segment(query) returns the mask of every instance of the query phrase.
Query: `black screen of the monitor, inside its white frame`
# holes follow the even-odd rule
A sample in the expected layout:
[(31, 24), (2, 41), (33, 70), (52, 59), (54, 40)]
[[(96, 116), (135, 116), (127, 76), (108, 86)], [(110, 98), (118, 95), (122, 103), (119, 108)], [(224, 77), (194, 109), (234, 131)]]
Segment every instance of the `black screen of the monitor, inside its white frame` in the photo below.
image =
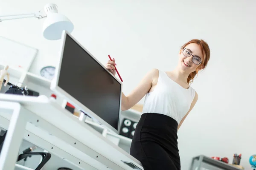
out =
[(63, 50), (58, 86), (118, 130), (121, 84), (68, 34)]

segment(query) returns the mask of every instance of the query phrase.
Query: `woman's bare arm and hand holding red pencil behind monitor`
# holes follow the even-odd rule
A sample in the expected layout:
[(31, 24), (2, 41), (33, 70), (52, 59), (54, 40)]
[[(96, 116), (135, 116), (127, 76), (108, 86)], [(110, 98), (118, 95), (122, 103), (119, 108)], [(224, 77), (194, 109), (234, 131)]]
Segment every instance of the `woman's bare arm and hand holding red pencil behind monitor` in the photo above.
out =
[[(113, 73), (115, 69), (114, 65), (115, 62), (108, 61), (106, 68)], [(128, 96), (122, 93), (121, 110), (126, 111), (136, 105), (151, 89), (155, 77), (158, 77), (158, 70), (154, 68), (143, 77), (139, 85)]]

